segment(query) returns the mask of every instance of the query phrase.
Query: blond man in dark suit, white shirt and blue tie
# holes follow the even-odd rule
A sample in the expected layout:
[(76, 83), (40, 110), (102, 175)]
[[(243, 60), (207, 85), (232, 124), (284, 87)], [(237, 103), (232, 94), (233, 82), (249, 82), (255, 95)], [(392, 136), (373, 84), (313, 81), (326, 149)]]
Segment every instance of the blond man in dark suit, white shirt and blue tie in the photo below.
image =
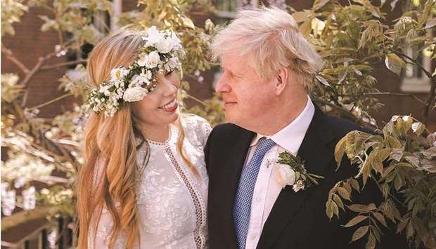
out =
[[(353, 216), (326, 216), (328, 191), (357, 173), (349, 161), (335, 172), (335, 144), (359, 126), (326, 116), (307, 95), (322, 62), (292, 16), (277, 8), (240, 11), (212, 53), (224, 69), (215, 90), (229, 123), (212, 130), (205, 148), (210, 248), (365, 248), (368, 234), (350, 243), (356, 228), (340, 226)], [(308, 173), (324, 178), (299, 191), (283, 188), (275, 165), (281, 152), (300, 156)], [(377, 248), (406, 248), (391, 242), (385, 234)]]

